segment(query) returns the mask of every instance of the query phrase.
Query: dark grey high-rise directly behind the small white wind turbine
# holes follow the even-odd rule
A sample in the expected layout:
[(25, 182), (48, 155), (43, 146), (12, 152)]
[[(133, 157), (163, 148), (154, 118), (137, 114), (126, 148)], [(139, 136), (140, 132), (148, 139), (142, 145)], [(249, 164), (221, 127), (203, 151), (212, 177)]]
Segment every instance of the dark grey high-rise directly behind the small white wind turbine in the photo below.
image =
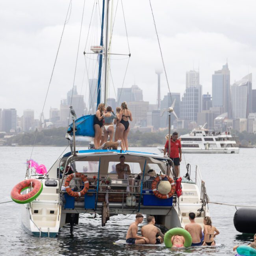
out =
[[(177, 117), (180, 117), (180, 93), (168, 93), (163, 97), (163, 100), (161, 100), (161, 110), (169, 108), (172, 106), (173, 102), (175, 100), (174, 104), (174, 112), (176, 113)], [(174, 120), (176, 117), (174, 117), (173, 114), (171, 114), (171, 125), (173, 125)], [(168, 127), (169, 126), (169, 117), (168, 113), (165, 111), (163, 113), (163, 116), (161, 117), (161, 124), (160, 127)]]

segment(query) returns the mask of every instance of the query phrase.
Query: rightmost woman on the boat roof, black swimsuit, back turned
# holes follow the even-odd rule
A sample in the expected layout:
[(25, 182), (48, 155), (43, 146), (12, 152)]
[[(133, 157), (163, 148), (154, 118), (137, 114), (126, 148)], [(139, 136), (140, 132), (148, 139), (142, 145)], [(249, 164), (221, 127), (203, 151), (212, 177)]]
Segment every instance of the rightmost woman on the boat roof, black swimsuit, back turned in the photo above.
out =
[(129, 119), (132, 121), (132, 113), (128, 109), (126, 102), (122, 102), (121, 111), (119, 113), (119, 131), (118, 139), (122, 140), (122, 150), (128, 150), (128, 134), (130, 132)]

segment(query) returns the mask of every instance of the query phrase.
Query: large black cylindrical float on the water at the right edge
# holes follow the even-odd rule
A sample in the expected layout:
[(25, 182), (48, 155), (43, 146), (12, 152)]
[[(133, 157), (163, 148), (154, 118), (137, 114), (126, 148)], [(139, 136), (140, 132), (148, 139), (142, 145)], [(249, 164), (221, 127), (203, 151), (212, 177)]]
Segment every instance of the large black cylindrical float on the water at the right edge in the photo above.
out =
[(239, 208), (234, 215), (234, 226), (238, 232), (255, 234), (256, 208)]

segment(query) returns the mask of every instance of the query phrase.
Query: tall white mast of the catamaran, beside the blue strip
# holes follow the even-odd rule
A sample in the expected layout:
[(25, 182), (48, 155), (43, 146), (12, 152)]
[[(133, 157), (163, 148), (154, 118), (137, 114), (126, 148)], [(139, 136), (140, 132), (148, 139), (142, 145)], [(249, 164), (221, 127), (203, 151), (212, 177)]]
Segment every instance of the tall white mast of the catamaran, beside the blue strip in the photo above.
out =
[(108, 33), (109, 33), (109, 0), (106, 2), (106, 35), (104, 44), (104, 104), (107, 102), (107, 86), (108, 86)]

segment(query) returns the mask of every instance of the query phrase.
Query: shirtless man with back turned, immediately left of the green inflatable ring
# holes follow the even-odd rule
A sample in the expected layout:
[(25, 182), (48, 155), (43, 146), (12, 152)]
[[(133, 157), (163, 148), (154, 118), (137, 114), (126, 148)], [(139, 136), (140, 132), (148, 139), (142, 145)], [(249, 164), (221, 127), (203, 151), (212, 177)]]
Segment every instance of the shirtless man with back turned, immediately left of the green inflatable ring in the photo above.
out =
[[(143, 226), (141, 228), (141, 234), (142, 236), (145, 236), (149, 239), (149, 243), (153, 245), (157, 245), (159, 243), (163, 243), (163, 233), (161, 232), (160, 228), (155, 226), (155, 217), (154, 216), (149, 216), (147, 218), (148, 224)], [(156, 234), (159, 236), (156, 237)]]

